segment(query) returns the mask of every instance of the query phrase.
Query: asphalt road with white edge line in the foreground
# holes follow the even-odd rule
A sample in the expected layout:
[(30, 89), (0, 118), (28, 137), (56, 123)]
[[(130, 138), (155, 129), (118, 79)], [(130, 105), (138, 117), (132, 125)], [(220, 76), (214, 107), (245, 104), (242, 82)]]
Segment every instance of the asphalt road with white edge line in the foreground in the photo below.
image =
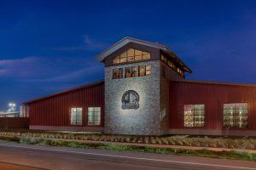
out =
[[(4, 166), (6, 168), (2, 168)], [(256, 170), (256, 162), (0, 142), (0, 169), (37, 170), (38, 168), (74, 170)]]

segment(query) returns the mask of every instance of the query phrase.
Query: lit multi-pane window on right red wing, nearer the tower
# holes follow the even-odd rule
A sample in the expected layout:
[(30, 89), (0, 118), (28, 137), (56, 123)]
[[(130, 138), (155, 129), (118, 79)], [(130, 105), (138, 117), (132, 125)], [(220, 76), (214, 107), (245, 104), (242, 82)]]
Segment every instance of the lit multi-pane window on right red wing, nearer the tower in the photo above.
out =
[(205, 127), (205, 105), (184, 105), (184, 127)]

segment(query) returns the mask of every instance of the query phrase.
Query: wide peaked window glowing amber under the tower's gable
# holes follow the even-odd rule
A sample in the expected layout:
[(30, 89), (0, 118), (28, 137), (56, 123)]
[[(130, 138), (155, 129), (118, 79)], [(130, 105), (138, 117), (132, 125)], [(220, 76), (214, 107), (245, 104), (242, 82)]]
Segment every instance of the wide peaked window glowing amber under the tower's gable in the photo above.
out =
[(146, 59), (150, 59), (150, 54), (148, 52), (140, 51), (134, 48), (129, 48), (122, 54), (119, 54), (119, 56), (117, 56), (115, 59), (113, 59), (113, 64), (134, 62)]

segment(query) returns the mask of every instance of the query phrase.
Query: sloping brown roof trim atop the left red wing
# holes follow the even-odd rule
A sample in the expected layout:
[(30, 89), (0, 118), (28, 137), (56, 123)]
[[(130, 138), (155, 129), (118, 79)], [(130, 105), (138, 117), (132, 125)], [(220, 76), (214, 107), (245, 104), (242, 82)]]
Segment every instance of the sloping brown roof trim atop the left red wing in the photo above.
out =
[(47, 98), (50, 98), (50, 97), (53, 97), (53, 96), (56, 96), (56, 95), (59, 95), (59, 94), (65, 94), (65, 93), (71, 92), (73, 90), (79, 90), (81, 88), (90, 88), (92, 86), (96, 86), (96, 85), (99, 85), (99, 84), (102, 84), (102, 83), (104, 83), (104, 80), (100, 80), (100, 81), (97, 81), (97, 82), (89, 82), (87, 84), (84, 84), (84, 85), (76, 87), (76, 88), (69, 88), (69, 89), (63, 90), (63, 91), (55, 93), (55, 94), (49, 94), (49, 95), (46, 95), (44, 97), (28, 100), (26, 102), (23, 102), (22, 105), (27, 105), (27, 104), (30, 104), (32, 102), (35, 102), (35, 101), (38, 101), (38, 100), (41, 100), (41, 99), (47, 99)]

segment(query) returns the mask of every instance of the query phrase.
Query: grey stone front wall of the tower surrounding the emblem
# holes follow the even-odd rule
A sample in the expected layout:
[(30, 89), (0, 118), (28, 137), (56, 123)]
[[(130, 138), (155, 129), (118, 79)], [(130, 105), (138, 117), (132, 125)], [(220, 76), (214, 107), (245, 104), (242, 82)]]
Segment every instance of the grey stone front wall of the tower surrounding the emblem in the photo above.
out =
[[(112, 79), (113, 68), (151, 65), (148, 77)], [(139, 94), (139, 109), (122, 110), (127, 90)], [(105, 67), (105, 133), (160, 135), (160, 60)]]

